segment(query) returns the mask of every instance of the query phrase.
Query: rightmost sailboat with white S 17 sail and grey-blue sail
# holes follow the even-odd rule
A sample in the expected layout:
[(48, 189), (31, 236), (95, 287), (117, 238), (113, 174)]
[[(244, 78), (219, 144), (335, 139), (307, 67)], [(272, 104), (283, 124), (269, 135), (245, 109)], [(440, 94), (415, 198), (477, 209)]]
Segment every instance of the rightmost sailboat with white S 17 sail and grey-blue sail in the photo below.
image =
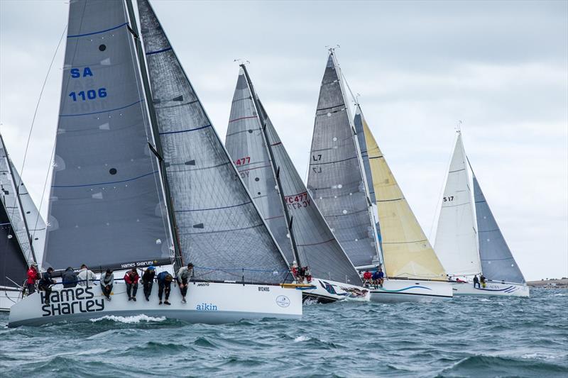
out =
[[(435, 243), (440, 260), (452, 278), (454, 295), (529, 296), (525, 277), (468, 165), (458, 130)], [(475, 275), (486, 277), (486, 283), (475, 287), (472, 282)]]

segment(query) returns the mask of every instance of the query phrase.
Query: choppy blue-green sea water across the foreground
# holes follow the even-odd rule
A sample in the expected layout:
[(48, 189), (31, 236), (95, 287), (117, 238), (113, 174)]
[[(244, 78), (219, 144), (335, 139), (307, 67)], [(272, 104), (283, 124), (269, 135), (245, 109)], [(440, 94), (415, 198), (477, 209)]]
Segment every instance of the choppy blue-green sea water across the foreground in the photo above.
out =
[(568, 377), (568, 291), (308, 304), (300, 321), (136, 316), (7, 328), (0, 377)]

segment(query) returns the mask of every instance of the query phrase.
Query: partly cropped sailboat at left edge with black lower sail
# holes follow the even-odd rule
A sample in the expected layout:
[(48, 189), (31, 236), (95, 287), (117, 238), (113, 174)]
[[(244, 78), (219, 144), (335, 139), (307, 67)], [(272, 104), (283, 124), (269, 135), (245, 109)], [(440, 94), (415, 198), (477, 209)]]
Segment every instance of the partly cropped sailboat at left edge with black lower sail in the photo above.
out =
[[(21, 188), (19, 193), (18, 187)], [(26, 216), (31, 215), (35, 205), (32, 201), (26, 205), (33, 209), (24, 208), (25, 196), (29, 196), (28, 192), (0, 135), (0, 311), (9, 311), (21, 299), (26, 272), (36, 261), (32, 247), (35, 240), (28, 229), (29, 218)], [(38, 235), (37, 240), (39, 238)]]

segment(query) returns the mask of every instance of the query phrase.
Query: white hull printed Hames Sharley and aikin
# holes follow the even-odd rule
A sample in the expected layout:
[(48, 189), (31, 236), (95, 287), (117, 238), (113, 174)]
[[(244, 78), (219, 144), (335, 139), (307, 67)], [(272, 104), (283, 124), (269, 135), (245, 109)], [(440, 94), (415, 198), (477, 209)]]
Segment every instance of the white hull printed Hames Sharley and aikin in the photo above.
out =
[(58, 321), (85, 321), (103, 316), (147, 316), (179, 319), (190, 323), (232, 323), (242, 319), (290, 318), (302, 316), (302, 291), (275, 285), (195, 282), (181, 303), (177, 285), (172, 284), (171, 305), (158, 305), (158, 284), (154, 283), (150, 301), (138, 285), (137, 301), (128, 301), (126, 285), (116, 282), (111, 301), (99, 285), (54, 289), (50, 304), (43, 304), (44, 293), (26, 296), (12, 306), (9, 327), (40, 326)]

